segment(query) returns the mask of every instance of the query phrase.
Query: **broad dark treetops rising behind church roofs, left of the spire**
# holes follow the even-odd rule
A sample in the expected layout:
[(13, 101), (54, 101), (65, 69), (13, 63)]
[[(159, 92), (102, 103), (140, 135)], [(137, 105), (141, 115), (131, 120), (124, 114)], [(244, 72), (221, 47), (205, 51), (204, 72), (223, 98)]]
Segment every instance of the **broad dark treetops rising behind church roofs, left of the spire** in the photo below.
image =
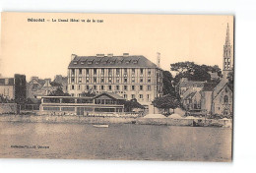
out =
[(189, 61), (170, 64), (170, 71), (177, 72), (174, 78), (175, 83), (178, 83), (181, 78), (187, 78), (189, 81), (211, 82), (209, 72), (217, 73), (219, 77), (222, 76), (222, 71), (217, 65), (197, 65)]

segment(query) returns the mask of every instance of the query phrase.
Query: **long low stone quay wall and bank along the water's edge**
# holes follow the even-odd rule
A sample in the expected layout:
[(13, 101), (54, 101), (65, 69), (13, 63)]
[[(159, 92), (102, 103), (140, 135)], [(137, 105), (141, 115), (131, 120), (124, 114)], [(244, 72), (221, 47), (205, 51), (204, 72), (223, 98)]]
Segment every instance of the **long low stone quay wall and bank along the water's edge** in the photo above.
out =
[(230, 119), (172, 119), (144, 117), (86, 117), (86, 116), (49, 116), (49, 115), (0, 115), (0, 122), (24, 123), (79, 123), (79, 124), (138, 124), (165, 126), (224, 127), (231, 128)]

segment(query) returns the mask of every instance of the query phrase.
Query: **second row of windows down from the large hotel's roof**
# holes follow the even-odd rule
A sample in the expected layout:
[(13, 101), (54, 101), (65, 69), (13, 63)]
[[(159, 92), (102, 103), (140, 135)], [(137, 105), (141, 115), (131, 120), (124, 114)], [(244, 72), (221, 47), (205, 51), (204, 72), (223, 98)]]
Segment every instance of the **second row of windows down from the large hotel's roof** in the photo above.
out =
[[(93, 82), (97, 83), (96, 77), (93, 78)], [(106, 82), (105, 78), (100, 78), (100, 83), (105, 83), (105, 82)], [(124, 77), (123, 82), (127, 83), (128, 78)], [(135, 77), (132, 77), (131, 82), (135, 83)], [(147, 82), (151, 83), (151, 78), (150, 77), (148, 78)], [(71, 78), (71, 83), (75, 83), (75, 78)], [(78, 83), (82, 83), (82, 77), (78, 78)], [(86, 78), (86, 83), (90, 83), (90, 78), (89, 77)], [(108, 83), (113, 83), (113, 78), (108, 78)], [(115, 83), (120, 83), (120, 78), (116, 78)], [(144, 83), (144, 78), (143, 77), (140, 78), (140, 83)]]

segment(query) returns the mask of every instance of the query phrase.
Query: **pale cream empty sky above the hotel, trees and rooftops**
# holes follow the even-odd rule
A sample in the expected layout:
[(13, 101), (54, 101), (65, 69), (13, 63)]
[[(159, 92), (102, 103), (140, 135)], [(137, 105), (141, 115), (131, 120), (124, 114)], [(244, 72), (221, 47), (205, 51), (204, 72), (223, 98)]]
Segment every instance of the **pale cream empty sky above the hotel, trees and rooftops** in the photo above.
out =
[[(1, 16), (0, 74), (3, 77), (25, 74), (27, 81), (32, 76), (42, 79), (67, 76), (71, 54), (129, 53), (144, 55), (156, 63), (160, 52), (163, 70), (170, 70), (171, 63), (182, 61), (218, 65), (222, 69), (227, 23), (233, 44), (232, 16), (72, 13), (2, 13)], [(44, 22), (28, 22), (28, 19), (44, 19)], [(102, 21), (93, 23), (93, 20)]]

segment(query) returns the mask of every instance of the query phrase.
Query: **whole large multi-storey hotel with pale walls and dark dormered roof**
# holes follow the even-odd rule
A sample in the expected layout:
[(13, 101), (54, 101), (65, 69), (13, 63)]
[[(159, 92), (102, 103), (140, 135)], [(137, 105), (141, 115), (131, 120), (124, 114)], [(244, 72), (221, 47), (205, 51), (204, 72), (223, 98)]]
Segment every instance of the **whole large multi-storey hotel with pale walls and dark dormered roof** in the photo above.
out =
[(155, 97), (163, 93), (162, 70), (142, 55), (72, 54), (71, 58), (68, 92), (72, 96), (81, 96), (88, 90), (113, 92), (125, 99), (136, 98), (141, 104), (150, 105)]

